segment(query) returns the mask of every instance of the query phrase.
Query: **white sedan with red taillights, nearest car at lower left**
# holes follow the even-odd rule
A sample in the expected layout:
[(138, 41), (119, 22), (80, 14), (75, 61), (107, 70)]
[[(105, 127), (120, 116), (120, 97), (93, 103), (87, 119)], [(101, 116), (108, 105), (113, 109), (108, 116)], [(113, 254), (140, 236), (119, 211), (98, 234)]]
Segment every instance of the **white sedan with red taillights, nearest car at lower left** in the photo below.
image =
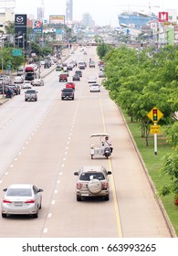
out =
[(1, 203), (1, 214), (3, 218), (11, 214), (30, 215), (38, 217), (41, 208), (43, 191), (33, 184), (12, 184), (3, 189), (5, 195)]

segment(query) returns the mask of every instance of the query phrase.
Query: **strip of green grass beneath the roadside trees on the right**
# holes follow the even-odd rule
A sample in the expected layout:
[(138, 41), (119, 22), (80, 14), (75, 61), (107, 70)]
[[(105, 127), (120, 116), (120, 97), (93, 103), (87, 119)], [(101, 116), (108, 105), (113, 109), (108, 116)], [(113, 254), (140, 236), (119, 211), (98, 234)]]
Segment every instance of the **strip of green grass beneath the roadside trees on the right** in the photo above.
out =
[(131, 123), (131, 118), (125, 112), (122, 113), (131, 131), (132, 137), (137, 144), (148, 173), (152, 178), (152, 182), (156, 188), (156, 197), (161, 198), (162, 205), (178, 236), (178, 206), (174, 204), (174, 195), (171, 194), (165, 197), (159, 195), (162, 187), (171, 183), (169, 176), (162, 175), (161, 168), (163, 165), (163, 156), (173, 152), (172, 146), (166, 142), (161, 127), (162, 133), (157, 135), (157, 155), (154, 155), (153, 135), (149, 134), (149, 145), (146, 146), (145, 138), (141, 138), (141, 124)]

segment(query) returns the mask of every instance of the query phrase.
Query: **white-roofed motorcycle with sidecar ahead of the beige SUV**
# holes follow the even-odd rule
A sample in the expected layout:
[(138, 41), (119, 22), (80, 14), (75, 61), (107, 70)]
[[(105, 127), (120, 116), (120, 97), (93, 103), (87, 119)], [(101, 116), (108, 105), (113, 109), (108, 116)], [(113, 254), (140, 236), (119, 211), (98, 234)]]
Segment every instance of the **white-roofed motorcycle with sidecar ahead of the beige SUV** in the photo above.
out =
[(112, 154), (113, 148), (110, 143), (110, 136), (108, 133), (92, 133), (90, 135), (90, 156), (94, 157), (104, 156), (107, 159)]

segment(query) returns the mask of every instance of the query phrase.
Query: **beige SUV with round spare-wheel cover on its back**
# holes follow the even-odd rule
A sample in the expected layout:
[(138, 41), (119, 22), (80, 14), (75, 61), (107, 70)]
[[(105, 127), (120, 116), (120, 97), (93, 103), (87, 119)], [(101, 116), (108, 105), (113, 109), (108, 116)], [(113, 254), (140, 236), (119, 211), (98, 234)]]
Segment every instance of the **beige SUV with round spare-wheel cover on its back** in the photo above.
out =
[(110, 171), (102, 165), (99, 166), (83, 166), (78, 172), (74, 173), (78, 176), (76, 185), (77, 201), (87, 197), (104, 197), (106, 201), (110, 199), (109, 178)]

